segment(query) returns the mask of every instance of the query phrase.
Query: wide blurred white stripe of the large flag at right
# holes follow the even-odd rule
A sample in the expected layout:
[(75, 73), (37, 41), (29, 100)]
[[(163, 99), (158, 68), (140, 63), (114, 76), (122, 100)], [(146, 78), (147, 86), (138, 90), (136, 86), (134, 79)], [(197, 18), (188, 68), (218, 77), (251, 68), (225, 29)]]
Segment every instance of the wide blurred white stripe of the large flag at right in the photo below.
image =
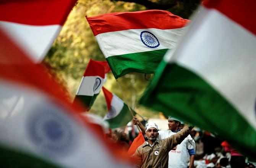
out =
[(183, 39), (170, 61), (203, 77), (256, 128), (256, 36), (202, 7)]

